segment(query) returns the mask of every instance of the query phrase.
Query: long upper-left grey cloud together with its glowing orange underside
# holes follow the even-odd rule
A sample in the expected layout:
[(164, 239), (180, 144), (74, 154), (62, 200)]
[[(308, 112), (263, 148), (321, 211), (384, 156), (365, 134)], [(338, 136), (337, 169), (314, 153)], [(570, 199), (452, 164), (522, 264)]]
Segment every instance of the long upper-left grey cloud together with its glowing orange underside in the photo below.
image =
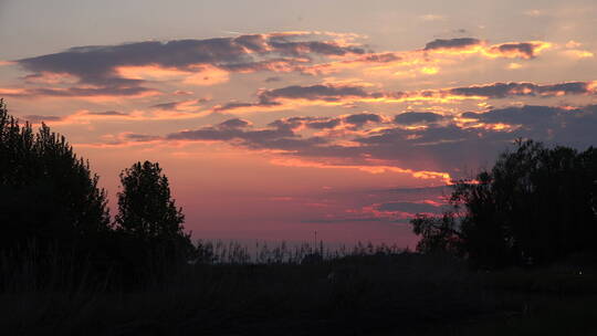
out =
[[(327, 40), (296, 41), (303, 38)], [(293, 64), (310, 62), (312, 55), (363, 53), (362, 48), (334, 34), (297, 32), (75, 46), (14, 63), (32, 73), (27, 76), (31, 81), (76, 78), (75, 86), (69, 88), (30, 88), (23, 95), (130, 96), (151, 91), (144, 86), (148, 80), (181, 76), (186, 84), (214, 85), (227, 82), (229, 72), (287, 72)]]

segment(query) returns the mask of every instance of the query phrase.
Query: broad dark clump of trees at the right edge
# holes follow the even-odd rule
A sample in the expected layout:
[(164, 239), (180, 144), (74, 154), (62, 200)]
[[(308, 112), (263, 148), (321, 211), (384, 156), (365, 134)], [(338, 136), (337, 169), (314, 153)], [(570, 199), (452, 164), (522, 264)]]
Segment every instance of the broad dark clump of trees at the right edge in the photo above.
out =
[(450, 211), (411, 220), (420, 252), (478, 267), (597, 261), (597, 148), (519, 139), (493, 168), (452, 187)]

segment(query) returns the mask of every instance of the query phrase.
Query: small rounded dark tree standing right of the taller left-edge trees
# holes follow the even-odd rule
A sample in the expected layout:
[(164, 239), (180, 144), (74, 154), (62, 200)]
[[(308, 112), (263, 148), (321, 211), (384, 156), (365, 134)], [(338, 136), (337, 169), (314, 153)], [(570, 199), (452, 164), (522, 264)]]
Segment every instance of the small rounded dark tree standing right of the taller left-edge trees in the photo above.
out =
[(188, 253), (192, 245), (184, 232), (185, 214), (176, 207), (159, 164), (134, 164), (121, 172), (121, 183), (117, 230), (159, 249)]

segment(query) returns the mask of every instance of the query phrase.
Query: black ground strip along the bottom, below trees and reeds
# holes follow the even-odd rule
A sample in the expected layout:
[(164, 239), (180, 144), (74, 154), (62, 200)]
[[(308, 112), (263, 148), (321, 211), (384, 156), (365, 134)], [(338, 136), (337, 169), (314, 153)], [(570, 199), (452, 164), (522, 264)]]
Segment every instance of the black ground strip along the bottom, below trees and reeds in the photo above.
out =
[(1, 270), (0, 334), (597, 335), (596, 273), (570, 264), (472, 272), (446, 256), (360, 255), (180, 266), (126, 290), (65, 286), (63, 269)]

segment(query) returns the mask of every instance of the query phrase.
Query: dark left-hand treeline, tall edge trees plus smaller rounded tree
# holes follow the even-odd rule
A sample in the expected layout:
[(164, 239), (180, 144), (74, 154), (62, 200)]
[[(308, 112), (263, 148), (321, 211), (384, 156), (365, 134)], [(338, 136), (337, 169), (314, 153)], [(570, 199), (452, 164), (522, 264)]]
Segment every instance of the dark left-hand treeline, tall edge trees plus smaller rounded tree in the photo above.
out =
[[(93, 274), (143, 279), (151, 269), (192, 258), (185, 216), (157, 162), (121, 174), (118, 212), (111, 219), (98, 176), (71, 145), (43, 125), (33, 130), (0, 99), (0, 254), (66, 261)], [(27, 255), (27, 256), (25, 256)], [(22, 261), (25, 262), (25, 261)]]

